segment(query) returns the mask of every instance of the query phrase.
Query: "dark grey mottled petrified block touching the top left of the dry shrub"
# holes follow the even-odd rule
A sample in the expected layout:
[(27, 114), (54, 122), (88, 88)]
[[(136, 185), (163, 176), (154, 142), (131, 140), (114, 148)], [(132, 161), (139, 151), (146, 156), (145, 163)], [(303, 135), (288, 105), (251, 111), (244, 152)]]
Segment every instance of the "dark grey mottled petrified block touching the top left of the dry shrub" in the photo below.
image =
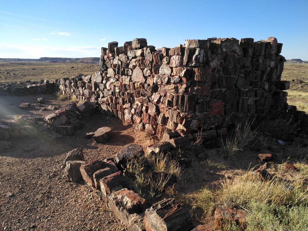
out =
[(118, 164), (118, 166), (125, 166), (128, 161), (142, 155), (144, 155), (144, 150), (141, 145), (129, 144), (125, 145), (115, 155), (115, 161)]

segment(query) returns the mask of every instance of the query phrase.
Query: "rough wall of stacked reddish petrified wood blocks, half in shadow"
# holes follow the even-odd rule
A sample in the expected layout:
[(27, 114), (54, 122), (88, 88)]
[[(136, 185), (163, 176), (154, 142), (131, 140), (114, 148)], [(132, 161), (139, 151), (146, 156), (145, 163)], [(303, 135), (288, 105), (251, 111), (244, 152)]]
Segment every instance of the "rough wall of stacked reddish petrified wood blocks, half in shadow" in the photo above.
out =
[(270, 37), (185, 40), (155, 49), (135, 39), (101, 49), (99, 71), (58, 81), (62, 93), (161, 136), (166, 130), (225, 134), (249, 115), (287, 110), (282, 44)]

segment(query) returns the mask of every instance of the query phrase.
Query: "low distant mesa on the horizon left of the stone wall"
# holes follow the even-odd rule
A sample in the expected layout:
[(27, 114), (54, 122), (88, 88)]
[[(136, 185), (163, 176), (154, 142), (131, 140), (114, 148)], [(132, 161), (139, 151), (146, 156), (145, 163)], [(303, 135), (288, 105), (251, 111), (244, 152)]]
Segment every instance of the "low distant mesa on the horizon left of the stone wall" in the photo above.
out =
[(0, 61), (19, 61), (19, 62), (84, 62), (84, 63), (99, 63), (99, 57), (88, 57), (88, 58), (51, 58), (41, 57), (39, 59), (11, 59), (11, 58), (0, 58)]

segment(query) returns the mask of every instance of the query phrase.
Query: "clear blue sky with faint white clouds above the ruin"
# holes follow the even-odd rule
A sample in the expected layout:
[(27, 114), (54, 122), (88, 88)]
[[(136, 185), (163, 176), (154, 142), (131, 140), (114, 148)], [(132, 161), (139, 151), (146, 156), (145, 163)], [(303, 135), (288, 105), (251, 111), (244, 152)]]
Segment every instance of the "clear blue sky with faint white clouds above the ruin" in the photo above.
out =
[(286, 59), (308, 60), (308, 1), (0, 0), (0, 58), (99, 57), (108, 42), (146, 38), (276, 37)]

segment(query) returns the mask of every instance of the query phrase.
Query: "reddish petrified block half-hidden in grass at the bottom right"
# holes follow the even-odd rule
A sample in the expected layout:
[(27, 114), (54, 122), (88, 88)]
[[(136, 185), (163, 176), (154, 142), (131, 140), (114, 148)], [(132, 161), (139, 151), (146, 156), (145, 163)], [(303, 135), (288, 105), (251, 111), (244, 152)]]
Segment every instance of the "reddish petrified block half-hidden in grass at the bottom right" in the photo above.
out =
[(235, 221), (237, 225), (245, 226), (247, 216), (248, 214), (241, 209), (218, 205), (214, 213), (216, 229), (221, 228), (223, 222), (230, 223), (231, 221)]

